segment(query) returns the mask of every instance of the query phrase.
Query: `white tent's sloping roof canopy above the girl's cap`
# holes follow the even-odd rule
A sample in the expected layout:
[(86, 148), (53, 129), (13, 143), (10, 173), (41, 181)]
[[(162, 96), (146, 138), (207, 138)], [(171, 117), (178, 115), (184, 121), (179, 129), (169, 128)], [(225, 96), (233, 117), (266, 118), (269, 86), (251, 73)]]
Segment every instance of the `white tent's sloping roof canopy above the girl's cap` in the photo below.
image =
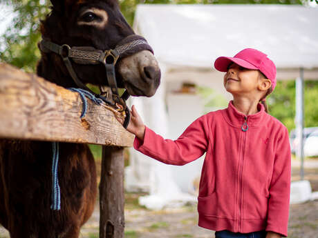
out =
[(211, 67), (243, 48), (277, 68), (318, 68), (318, 8), (286, 5), (139, 5), (134, 28), (167, 65)]

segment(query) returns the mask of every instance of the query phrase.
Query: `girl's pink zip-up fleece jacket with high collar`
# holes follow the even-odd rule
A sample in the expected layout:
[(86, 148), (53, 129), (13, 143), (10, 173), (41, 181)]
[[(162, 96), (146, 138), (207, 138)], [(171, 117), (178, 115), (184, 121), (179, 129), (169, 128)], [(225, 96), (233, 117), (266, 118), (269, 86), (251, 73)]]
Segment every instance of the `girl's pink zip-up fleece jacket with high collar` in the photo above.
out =
[[(232, 232), (273, 231), (287, 237), (290, 201), (288, 130), (259, 112), (226, 109), (199, 117), (176, 140), (146, 127), (133, 146), (163, 163), (182, 166), (205, 152), (198, 195), (198, 226)], [(248, 128), (247, 128), (247, 126)]]

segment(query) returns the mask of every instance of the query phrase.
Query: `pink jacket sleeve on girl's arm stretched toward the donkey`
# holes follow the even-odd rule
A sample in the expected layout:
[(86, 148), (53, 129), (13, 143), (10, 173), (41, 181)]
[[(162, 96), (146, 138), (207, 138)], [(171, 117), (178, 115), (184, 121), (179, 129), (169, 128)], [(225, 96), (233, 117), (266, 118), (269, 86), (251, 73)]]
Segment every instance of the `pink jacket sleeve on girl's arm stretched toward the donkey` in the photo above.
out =
[(135, 137), (133, 147), (153, 159), (178, 166), (198, 159), (207, 150), (207, 122), (199, 117), (176, 140), (163, 139), (146, 127), (144, 140)]

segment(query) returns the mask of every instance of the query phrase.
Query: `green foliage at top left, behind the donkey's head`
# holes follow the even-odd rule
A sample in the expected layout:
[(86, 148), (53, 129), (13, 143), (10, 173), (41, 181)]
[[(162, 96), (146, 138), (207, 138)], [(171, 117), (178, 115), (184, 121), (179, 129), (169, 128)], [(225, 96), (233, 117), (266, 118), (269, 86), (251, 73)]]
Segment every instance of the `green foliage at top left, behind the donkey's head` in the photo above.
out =
[(5, 49), (0, 52), (0, 59), (32, 72), (40, 56), (37, 48), (40, 19), (50, 11), (50, 3), (48, 0), (0, 0), (0, 3), (11, 6), (15, 12), (15, 18), (0, 39)]

